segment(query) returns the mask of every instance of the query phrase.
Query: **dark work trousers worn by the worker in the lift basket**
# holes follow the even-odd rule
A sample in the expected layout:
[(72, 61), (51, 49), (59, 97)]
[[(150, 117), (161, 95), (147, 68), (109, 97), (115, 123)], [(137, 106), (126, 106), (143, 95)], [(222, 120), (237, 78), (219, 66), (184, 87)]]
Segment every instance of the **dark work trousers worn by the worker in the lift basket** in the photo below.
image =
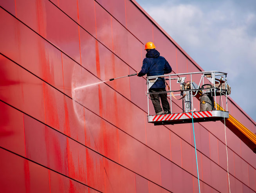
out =
[[(150, 93), (154, 93), (154, 92), (163, 92), (166, 91), (165, 88), (151, 88), (149, 89)], [(167, 93), (160, 93), (160, 94), (150, 94), (150, 98), (151, 101), (153, 103), (154, 109), (155, 109), (155, 113), (156, 114), (160, 114), (162, 113), (162, 107), (164, 109), (164, 113), (170, 113), (170, 105), (169, 102), (167, 100)], [(160, 98), (161, 98), (161, 102), (162, 102), (162, 107), (160, 105)]]

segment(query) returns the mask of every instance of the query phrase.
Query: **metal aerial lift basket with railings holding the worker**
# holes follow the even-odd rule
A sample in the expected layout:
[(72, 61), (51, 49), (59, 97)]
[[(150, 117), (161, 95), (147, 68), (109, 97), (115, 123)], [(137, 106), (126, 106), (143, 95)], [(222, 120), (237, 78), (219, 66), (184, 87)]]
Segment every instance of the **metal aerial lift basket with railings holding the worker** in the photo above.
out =
[[(168, 91), (149, 92), (151, 86), (159, 79), (165, 79)], [(187, 81), (186, 81), (187, 79)], [(155, 125), (169, 125), (179, 123), (217, 121), (229, 118), (227, 111), (227, 97), (231, 88), (227, 84), (227, 73), (218, 71), (200, 71), (147, 77), (148, 122)], [(174, 89), (172, 89), (174, 88)], [(149, 101), (151, 94), (167, 93), (170, 102), (170, 113), (150, 115)], [(178, 94), (176, 94), (178, 93)], [(180, 98), (176, 98), (180, 96)], [(225, 96), (225, 101), (222, 98)], [(173, 99), (182, 100), (180, 112), (173, 112)], [(200, 110), (194, 100), (200, 101)], [(217, 101), (222, 101), (222, 106)], [(225, 104), (225, 108), (223, 107)], [(225, 111), (223, 111), (225, 109)], [(193, 111), (193, 112), (192, 112)]]

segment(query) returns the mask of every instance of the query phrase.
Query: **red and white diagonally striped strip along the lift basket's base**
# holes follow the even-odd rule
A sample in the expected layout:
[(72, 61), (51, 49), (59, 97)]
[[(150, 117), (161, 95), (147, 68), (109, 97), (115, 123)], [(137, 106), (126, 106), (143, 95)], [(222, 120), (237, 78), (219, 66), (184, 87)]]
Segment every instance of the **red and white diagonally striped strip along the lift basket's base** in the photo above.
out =
[[(193, 118), (204, 118), (204, 117), (211, 117), (211, 116), (213, 116), (212, 111), (193, 112)], [(179, 120), (179, 119), (187, 119), (187, 118), (189, 119), (192, 118), (192, 112), (153, 115), (153, 122)]]

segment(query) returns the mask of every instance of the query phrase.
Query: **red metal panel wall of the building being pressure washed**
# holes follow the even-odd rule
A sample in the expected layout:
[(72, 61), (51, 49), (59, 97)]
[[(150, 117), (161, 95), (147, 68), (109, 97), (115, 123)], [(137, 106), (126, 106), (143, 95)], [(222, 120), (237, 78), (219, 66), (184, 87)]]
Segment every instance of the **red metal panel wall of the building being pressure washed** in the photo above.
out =
[[(1, 192), (198, 192), (192, 126), (147, 123), (144, 79), (74, 91), (139, 71), (147, 41), (174, 73), (202, 70), (136, 5), (0, 0)], [(201, 192), (228, 192), (224, 125), (195, 133)], [(229, 129), (227, 146), (231, 192), (256, 192), (256, 154)]]

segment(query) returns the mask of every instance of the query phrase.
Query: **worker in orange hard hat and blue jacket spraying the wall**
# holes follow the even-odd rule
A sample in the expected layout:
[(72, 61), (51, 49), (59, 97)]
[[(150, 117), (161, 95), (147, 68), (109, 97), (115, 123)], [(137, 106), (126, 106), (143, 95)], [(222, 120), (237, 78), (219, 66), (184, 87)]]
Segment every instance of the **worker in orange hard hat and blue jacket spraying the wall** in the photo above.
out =
[[(153, 42), (148, 42), (145, 45), (146, 57), (143, 60), (141, 71), (137, 76), (142, 77), (145, 74), (147, 76), (157, 76), (171, 73), (171, 66), (166, 61), (166, 59), (160, 56), (160, 53), (155, 49)], [(150, 93), (163, 92), (165, 89), (165, 79), (164, 77), (159, 77), (157, 81), (149, 89)], [(169, 114), (170, 105), (167, 100), (167, 93), (160, 94), (150, 94), (151, 101), (153, 103), (156, 114)], [(160, 99), (162, 102), (162, 107), (160, 105)]]

